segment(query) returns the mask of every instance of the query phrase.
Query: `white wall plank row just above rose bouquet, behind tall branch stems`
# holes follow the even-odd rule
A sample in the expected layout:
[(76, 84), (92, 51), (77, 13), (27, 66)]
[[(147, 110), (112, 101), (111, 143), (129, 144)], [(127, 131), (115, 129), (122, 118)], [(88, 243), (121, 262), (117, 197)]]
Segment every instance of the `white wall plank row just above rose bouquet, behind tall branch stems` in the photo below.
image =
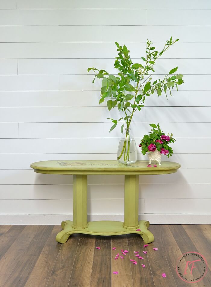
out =
[[(146, 111), (145, 111), (146, 109)], [(146, 113), (146, 115), (145, 115)], [(106, 107), (18, 107), (0, 108), (0, 122), (110, 122), (123, 113)], [(134, 122), (210, 122), (211, 107), (144, 107)]]

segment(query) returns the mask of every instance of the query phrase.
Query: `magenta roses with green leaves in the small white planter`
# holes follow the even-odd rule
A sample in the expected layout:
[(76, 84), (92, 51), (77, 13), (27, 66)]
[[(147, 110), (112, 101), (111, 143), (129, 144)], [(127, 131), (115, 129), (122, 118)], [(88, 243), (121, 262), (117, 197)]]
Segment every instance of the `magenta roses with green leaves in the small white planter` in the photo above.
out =
[[(159, 124), (150, 124), (152, 130), (150, 134), (145, 134), (139, 144), (141, 152), (145, 155), (147, 152), (159, 152), (167, 157), (172, 156), (173, 150), (169, 147), (169, 143), (174, 143), (175, 139), (172, 138), (173, 134), (165, 135)], [(159, 161), (159, 160), (158, 160)]]

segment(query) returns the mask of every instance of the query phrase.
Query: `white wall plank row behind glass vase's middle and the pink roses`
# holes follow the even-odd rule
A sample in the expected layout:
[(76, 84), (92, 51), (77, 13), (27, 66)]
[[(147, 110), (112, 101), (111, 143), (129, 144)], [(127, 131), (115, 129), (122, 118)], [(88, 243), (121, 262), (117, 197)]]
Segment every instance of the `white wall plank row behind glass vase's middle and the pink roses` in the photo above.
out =
[[(139, 139), (136, 139), (137, 144)], [(210, 153), (209, 144), (204, 144), (203, 149), (201, 143), (208, 142), (203, 138), (176, 138), (176, 144), (173, 145), (175, 153)], [(2, 146), (1, 153), (116, 153), (119, 138), (76, 138), (76, 139), (0, 139)], [(36, 152), (35, 152), (36, 151)], [(140, 151), (140, 149), (138, 150)], [(193, 155), (194, 156), (194, 155)]]

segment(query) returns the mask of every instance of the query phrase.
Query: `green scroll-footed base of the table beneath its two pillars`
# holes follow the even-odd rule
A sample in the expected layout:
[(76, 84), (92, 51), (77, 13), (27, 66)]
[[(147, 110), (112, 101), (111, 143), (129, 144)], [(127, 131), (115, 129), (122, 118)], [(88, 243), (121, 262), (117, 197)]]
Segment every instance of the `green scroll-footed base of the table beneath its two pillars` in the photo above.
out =
[[(150, 243), (154, 241), (153, 234), (148, 230), (150, 226), (149, 221), (140, 220), (138, 221), (139, 227), (134, 229), (127, 229), (123, 227), (123, 222), (121, 221), (90, 221), (88, 226), (83, 229), (74, 228), (73, 221), (66, 220), (62, 221), (61, 227), (62, 231), (59, 232), (56, 236), (56, 241), (59, 243), (65, 243), (68, 240), (68, 237), (74, 233), (83, 233), (83, 234), (93, 234), (93, 235), (120, 235), (120, 234), (129, 234), (137, 233), (143, 238), (144, 242)], [(140, 231), (137, 231), (140, 229)]]

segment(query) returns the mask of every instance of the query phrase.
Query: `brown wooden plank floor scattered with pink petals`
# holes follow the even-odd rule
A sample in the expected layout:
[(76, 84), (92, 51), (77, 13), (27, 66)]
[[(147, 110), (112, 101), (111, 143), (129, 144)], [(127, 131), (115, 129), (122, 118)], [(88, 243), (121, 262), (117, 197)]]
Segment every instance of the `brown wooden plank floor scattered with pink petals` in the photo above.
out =
[[(206, 276), (194, 286), (211, 286), (211, 225), (150, 225), (149, 229), (155, 241), (144, 248), (137, 234), (73, 234), (60, 244), (55, 241), (58, 225), (0, 225), (0, 286), (190, 286), (178, 277), (176, 263), (183, 253), (193, 251), (208, 263)], [(124, 258), (121, 249), (129, 251)], [(134, 251), (144, 259), (135, 257)]]

